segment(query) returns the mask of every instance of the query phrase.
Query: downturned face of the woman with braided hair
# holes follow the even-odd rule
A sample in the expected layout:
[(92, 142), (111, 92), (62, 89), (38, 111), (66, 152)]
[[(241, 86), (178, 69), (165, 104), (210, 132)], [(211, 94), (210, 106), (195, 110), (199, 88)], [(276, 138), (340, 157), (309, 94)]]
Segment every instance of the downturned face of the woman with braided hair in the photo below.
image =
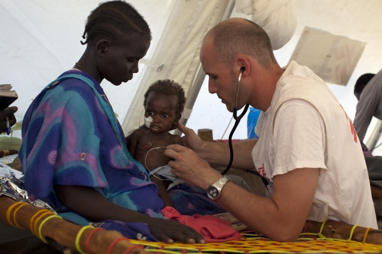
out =
[(102, 54), (97, 54), (96, 65), (101, 78), (116, 86), (129, 81), (138, 72), (138, 62), (149, 46), (150, 38), (138, 33), (108, 44)]

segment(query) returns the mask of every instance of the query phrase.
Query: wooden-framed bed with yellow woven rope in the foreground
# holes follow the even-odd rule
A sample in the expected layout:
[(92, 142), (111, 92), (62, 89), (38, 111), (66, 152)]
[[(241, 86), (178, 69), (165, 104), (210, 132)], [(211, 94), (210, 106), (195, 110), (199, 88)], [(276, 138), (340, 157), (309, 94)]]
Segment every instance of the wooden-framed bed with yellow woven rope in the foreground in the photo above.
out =
[[(60, 246), (77, 252), (92, 254), (186, 254), (186, 253), (380, 253), (382, 232), (373, 229), (350, 226), (348, 236), (340, 240), (325, 237), (336, 235), (336, 222), (311, 223), (297, 242), (280, 243), (271, 241), (253, 231), (242, 231), (242, 241), (208, 244), (165, 244), (130, 240), (115, 231), (106, 231), (90, 226), (81, 227), (61, 219), (51, 211), (0, 197), (0, 220), (7, 225), (29, 229), (41, 241), (56, 242)], [(330, 224), (330, 225), (328, 225)], [(312, 226), (313, 225), (313, 226)], [(344, 223), (338, 223), (344, 225)], [(349, 225), (346, 224), (346, 229)], [(317, 229), (317, 230), (316, 230)], [(338, 232), (337, 232), (338, 233)], [(357, 241), (353, 241), (353, 240)]]

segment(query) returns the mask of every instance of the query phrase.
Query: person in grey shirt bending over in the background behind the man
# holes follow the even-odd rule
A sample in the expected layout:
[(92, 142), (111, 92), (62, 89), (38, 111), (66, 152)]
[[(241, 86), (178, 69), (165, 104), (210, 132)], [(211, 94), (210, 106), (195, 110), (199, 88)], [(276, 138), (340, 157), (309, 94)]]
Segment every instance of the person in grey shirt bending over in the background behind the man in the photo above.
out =
[(358, 104), (353, 123), (362, 141), (373, 116), (382, 120), (382, 70), (377, 75), (361, 75), (354, 86), (354, 95)]

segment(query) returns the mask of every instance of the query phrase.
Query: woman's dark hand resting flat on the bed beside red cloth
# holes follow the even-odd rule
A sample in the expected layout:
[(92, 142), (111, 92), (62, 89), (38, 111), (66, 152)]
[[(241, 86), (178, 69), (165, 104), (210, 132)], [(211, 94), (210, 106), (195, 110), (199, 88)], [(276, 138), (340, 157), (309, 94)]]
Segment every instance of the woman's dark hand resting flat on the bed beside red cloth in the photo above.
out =
[(186, 244), (205, 243), (205, 240), (194, 229), (180, 224), (177, 221), (150, 218), (147, 225), (151, 234), (153, 234), (159, 241), (167, 244), (172, 244), (174, 242), (182, 242)]

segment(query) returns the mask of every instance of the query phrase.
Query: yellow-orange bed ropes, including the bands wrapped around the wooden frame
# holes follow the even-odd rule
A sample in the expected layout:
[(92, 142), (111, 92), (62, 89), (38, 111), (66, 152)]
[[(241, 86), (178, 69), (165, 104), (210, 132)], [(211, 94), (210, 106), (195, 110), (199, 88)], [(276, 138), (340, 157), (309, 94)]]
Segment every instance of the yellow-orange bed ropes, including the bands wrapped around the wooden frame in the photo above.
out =
[[(11, 226), (18, 226), (16, 222), (16, 214), (21, 207), (25, 206), (22, 202), (17, 202), (8, 207), (6, 211), (6, 222)], [(29, 205), (29, 204), (28, 204)], [(60, 218), (52, 214), (46, 209), (37, 211), (30, 219), (29, 228), (33, 234), (39, 236), (42, 241), (44, 239), (41, 235), (42, 226), (51, 218)], [(11, 221), (13, 219), (13, 222)], [(39, 222), (41, 221), (41, 222)], [(352, 241), (353, 233), (358, 227), (354, 225), (348, 240), (339, 240), (327, 238), (322, 235), (325, 222), (321, 225), (319, 233), (302, 233), (296, 242), (280, 243), (263, 237), (251, 230), (242, 231), (241, 235), (244, 237), (242, 241), (231, 241), (224, 243), (208, 243), (208, 244), (165, 244), (162, 242), (146, 242), (129, 239), (133, 246), (125, 250), (124, 253), (129, 253), (135, 249), (144, 249), (146, 252), (153, 252), (158, 254), (186, 254), (186, 253), (220, 253), (220, 254), (252, 254), (252, 253), (381, 253), (382, 245), (375, 245), (369, 243), (360, 243)], [(79, 253), (85, 253), (79, 248), (79, 241), (83, 231), (90, 226), (82, 227), (76, 236), (75, 247)], [(91, 234), (87, 237), (86, 250), (89, 249), (91, 236), (101, 229), (93, 229)], [(365, 231), (364, 242), (367, 239), (370, 228)], [(118, 241), (126, 238), (116, 238), (109, 246), (109, 252), (112, 251)], [(45, 241), (44, 241), (45, 242)]]

